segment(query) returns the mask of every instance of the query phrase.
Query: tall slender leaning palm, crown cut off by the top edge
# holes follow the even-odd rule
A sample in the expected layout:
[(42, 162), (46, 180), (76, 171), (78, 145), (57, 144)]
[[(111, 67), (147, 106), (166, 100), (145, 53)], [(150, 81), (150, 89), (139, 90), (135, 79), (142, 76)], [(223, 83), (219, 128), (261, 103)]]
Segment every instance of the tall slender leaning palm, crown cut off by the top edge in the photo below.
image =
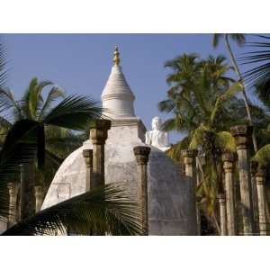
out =
[[(249, 104), (249, 101), (248, 101), (248, 98), (247, 98), (246, 88), (245, 88), (245, 85), (244, 85), (244, 79), (243, 79), (243, 76), (241, 75), (241, 72), (240, 72), (240, 70), (238, 68), (237, 60), (234, 57), (234, 54), (233, 54), (232, 49), (231, 49), (230, 44), (229, 44), (229, 38), (230, 38), (231, 40), (236, 41), (238, 46), (243, 46), (243, 44), (246, 42), (245, 34), (239, 34), (239, 33), (231, 33), (231, 34), (228, 34), (228, 33), (225, 33), (225, 34), (215, 33), (213, 35), (213, 46), (217, 47), (219, 45), (219, 43), (220, 43), (220, 39), (223, 38), (223, 37), (224, 37), (224, 40), (225, 40), (226, 48), (228, 49), (231, 64), (234, 67), (234, 70), (235, 70), (235, 72), (236, 72), (236, 74), (238, 76), (239, 82), (243, 85), (241, 93), (243, 94), (243, 99), (244, 99), (245, 106), (246, 106), (247, 120), (248, 120), (249, 124), (251, 126), (253, 126), (253, 121), (252, 121), (251, 112), (250, 112), (250, 104)], [(255, 150), (255, 152), (257, 152), (257, 139), (256, 139), (255, 131), (253, 131), (253, 133), (252, 133), (252, 140), (253, 140), (254, 150)]]

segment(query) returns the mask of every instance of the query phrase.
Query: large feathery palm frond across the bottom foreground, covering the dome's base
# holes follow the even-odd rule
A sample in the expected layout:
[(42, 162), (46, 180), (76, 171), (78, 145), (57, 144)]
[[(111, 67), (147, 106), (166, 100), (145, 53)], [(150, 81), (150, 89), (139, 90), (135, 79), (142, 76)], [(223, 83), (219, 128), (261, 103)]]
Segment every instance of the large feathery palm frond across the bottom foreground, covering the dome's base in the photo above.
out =
[(123, 188), (108, 184), (39, 211), (3, 235), (138, 235), (139, 224), (138, 203)]

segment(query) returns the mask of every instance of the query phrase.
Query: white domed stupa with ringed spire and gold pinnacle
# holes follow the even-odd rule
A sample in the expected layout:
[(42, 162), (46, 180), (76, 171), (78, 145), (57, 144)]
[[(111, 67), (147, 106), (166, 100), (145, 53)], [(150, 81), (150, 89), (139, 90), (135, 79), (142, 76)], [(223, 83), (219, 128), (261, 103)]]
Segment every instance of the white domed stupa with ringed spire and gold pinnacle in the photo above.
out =
[[(114, 51), (113, 67), (103, 89), (102, 102), (112, 118), (105, 144), (105, 182), (125, 182), (130, 195), (138, 195), (139, 175), (133, 148), (145, 144), (146, 128), (134, 112), (135, 95)], [(83, 149), (89, 140), (71, 153), (58, 168), (42, 209), (85, 193)], [(151, 146), (148, 162), (148, 232), (150, 235), (195, 235), (196, 216), (190, 181), (179, 174), (178, 166), (158, 148)]]

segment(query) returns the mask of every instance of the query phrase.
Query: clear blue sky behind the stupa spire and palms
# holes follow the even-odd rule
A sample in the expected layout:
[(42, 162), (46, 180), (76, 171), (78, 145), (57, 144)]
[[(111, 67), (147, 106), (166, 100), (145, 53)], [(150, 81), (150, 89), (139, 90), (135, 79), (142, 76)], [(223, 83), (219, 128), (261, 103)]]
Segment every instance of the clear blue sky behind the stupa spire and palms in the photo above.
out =
[[(8, 56), (8, 85), (17, 98), (33, 76), (49, 79), (67, 94), (87, 94), (100, 100), (112, 67), (117, 44), (121, 66), (136, 95), (136, 114), (147, 128), (153, 116), (168, 117), (157, 110), (166, 98), (167, 59), (184, 52), (226, 55), (223, 44), (212, 49), (211, 34), (4, 34)], [(236, 46), (233, 49), (242, 52)], [(179, 139), (171, 134), (172, 142)]]

